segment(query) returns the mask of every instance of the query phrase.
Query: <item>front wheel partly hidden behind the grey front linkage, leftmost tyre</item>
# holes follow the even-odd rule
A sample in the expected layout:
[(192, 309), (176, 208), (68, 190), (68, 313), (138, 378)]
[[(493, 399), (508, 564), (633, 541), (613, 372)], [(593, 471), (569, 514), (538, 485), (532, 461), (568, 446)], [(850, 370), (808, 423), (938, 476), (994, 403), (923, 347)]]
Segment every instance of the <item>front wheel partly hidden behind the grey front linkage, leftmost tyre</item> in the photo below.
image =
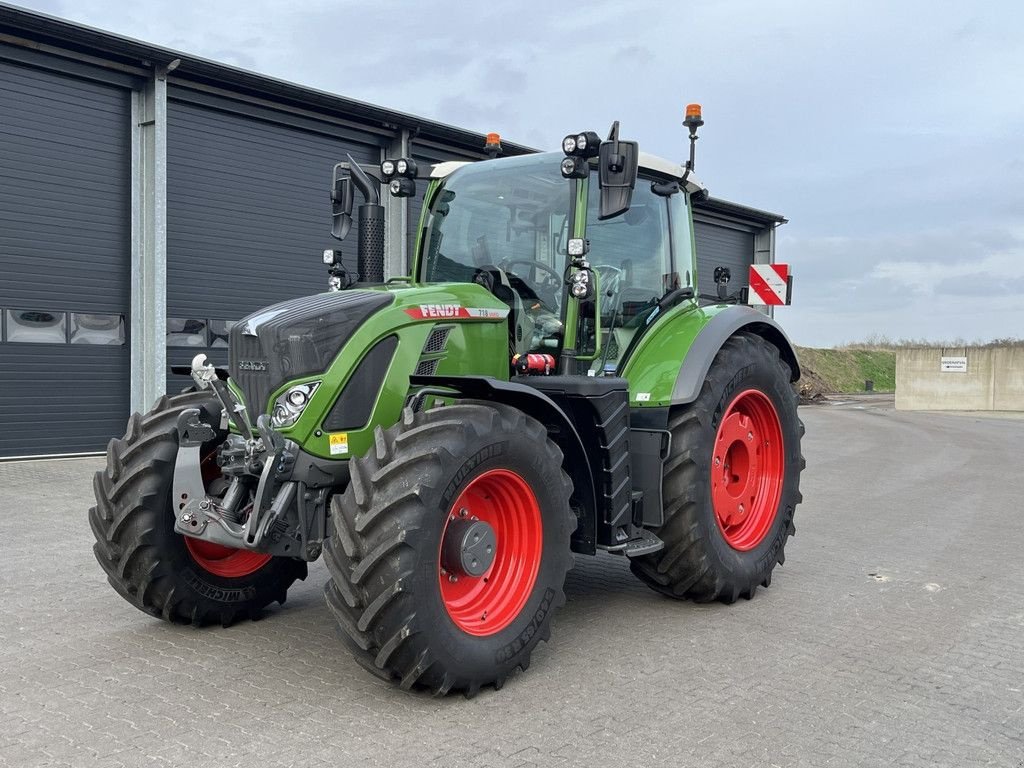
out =
[[(132, 414), (123, 438), (106, 449), (106, 468), (96, 472), (96, 506), (89, 524), (93, 552), (108, 581), (132, 605), (175, 624), (223, 626), (255, 618), (288, 588), (306, 578), (306, 564), (250, 550), (230, 549), (174, 531), (171, 486), (177, 457), (177, 418), (198, 408), (219, 423), (216, 400), (202, 392), (161, 397), (145, 416)], [(213, 459), (221, 434), (204, 455)], [(208, 486), (219, 472), (204, 462)]]

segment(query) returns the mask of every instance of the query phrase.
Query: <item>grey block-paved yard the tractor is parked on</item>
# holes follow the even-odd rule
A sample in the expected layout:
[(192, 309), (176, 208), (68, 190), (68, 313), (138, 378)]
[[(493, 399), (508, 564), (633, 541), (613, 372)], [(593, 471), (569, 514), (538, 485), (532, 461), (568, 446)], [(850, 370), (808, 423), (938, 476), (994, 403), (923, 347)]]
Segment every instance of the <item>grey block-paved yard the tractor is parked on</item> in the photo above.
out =
[(473, 700), (362, 672), (319, 565), (255, 624), (152, 620), (90, 552), (99, 461), (0, 464), (0, 765), (1024, 766), (1024, 422), (803, 416), (770, 590), (675, 603), (580, 558), (553, 641)]

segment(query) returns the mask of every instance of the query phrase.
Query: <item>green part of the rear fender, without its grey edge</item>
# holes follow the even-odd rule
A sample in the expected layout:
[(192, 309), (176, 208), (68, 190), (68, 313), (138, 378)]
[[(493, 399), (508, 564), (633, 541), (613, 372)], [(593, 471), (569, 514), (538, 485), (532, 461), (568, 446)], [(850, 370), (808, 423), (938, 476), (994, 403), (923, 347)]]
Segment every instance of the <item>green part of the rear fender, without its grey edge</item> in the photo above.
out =
[(630, 383), (630, 404), (671, 404), (679, 370), (686, 365), (693, 341), (716, 314), (727, 308), (722, 304), (698, 307), (690, 299), (654, 321), (618, 372)]

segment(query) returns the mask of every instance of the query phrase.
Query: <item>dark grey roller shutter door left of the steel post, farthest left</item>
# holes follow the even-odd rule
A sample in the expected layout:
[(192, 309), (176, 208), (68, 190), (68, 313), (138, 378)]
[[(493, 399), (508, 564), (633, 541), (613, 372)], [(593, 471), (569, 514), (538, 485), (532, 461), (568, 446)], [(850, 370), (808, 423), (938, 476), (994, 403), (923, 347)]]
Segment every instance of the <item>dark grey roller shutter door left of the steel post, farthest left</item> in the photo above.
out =
[(129, 125), (127, 89), (0, 60), (0, 457), (124, 433)]

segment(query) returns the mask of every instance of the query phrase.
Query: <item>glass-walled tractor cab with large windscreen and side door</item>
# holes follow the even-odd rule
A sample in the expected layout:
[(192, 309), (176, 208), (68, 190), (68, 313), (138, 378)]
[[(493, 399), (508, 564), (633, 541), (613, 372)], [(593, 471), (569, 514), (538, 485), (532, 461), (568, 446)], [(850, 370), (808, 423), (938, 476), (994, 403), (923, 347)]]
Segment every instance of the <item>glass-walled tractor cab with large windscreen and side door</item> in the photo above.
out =
[[(558, 155), (435, 166), (426, 195), (414, 278), (476, 283), (509, 306), (513, 355), (565, 348), (569, 241), (586, 227), (586, 268), (595, 289), (575, 312), (579, 359), (563, 373), (613, 374), (666, 296), (692, 285), (690, 191), (684, 169), (641, 155), (629, 206), (601, 219), (596, 174), (571, 185)], [(586, 201), (574, 212), (577, 201)], [(585, 214), (585, 216), (583, 215)], [(575, 231), (573, 231), (575, 230)]]

